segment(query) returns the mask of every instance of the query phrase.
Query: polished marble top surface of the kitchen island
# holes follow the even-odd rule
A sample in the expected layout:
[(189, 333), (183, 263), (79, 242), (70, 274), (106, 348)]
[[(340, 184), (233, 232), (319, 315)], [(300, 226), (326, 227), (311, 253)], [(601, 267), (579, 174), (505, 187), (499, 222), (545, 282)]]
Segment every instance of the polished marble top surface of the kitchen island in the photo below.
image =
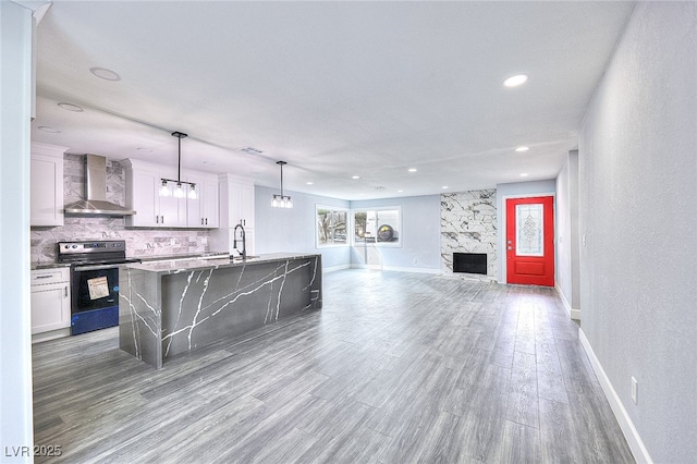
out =
[(179, 273), (200, 269), (219, 269), (234, 266), (245, 266), (252, 264), (283, 261), (288, 259), (310, 258), (314, 254), (293, 253), (271, 253), (265, 255), (250, 255), (247, 259), (241, 257), (232, 258), (224, 254), (193, 255), (191, 257), (176, 257), (171, 259), (148, 260), (143, 262), (129, 264), (126, 267), (148, 272)]

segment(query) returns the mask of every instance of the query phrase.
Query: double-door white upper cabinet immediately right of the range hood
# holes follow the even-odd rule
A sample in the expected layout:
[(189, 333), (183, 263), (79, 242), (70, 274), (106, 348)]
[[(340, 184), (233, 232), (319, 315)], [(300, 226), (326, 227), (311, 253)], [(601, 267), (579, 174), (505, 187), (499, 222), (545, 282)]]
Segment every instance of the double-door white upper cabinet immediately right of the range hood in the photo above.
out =
[(126, 207), (136, 211), (135, 215), (125, 218), (126, 225), (134, 228), (185, 228), (187, 198), (160, 196), (162, 178), (173, 179), (176, 176), (176, 171), (131, 159), (126, 159), (124, 166), (126, 171)]

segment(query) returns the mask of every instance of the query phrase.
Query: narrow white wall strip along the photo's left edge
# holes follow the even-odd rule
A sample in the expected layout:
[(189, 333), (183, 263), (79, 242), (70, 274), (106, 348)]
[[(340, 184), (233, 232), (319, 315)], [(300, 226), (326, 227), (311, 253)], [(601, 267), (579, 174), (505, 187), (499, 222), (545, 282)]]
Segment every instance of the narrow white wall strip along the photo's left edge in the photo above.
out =
[[(32, 462), (29, 119), (32, 12), (0, 1), (0, 450)], [(7, 448), (5, 448), (7, 447)], [(15, 448), (12, 448), (15, 447)], [(15, 451), (20, 449), (20, 457)], [(5, 451), (9, 450), (9, 451)], [(8, 453), (10, 454), (8, 456)], [(24, 455), (22, 455), (24, 454)]]

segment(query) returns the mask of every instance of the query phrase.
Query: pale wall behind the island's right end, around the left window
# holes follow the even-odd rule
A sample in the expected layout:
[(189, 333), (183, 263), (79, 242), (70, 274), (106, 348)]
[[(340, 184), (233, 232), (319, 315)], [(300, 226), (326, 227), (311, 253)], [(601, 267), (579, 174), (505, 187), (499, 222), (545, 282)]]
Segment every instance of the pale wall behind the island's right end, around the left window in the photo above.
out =
[(293, 198), (292, 209), (271, 207), (271, 196), (277, 188), (255, 186), (255, 253), (320, 253), (322, 268), (341, 268), (351, 265), (347, 246), (321, 247), (315, 243), (316, 205), (350, 208), (348, 202), (284, 192)]

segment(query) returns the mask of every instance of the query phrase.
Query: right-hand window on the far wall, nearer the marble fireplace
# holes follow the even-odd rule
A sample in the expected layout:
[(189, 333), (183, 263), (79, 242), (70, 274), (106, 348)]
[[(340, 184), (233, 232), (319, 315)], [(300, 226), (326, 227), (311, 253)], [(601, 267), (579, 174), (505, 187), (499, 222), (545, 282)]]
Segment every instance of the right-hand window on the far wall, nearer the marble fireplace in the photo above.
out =
[(399, 207), (354, 210), (354, 244), (401, 246), (401, 216)]

